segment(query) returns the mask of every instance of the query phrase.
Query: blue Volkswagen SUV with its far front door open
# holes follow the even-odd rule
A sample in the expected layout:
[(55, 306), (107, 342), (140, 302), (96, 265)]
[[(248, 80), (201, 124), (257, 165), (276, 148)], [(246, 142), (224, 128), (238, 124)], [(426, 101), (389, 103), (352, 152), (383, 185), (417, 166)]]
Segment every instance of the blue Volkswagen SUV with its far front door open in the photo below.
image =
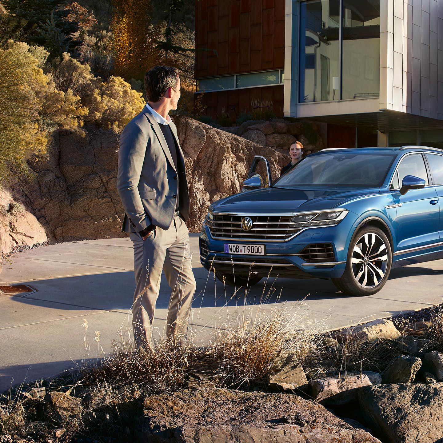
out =
[(443, 152), (324, 149), (275, 182), (256, 156), (242, 192), (210, 205), (199, 241), (203, 266), (230, 285), (322, 278), (375, 294), (393, 267), (443, 258)]

